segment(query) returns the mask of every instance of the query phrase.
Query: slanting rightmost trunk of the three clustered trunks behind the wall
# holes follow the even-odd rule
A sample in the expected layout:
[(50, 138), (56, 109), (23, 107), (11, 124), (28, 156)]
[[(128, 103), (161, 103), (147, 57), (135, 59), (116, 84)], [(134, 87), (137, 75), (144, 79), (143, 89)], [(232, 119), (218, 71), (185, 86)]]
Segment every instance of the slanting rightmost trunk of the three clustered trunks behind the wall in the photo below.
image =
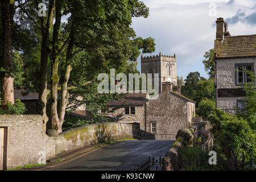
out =
[(73, 47), (74, 47), (74, 32), (73, 29), (71, 30), (70, 33), (70, 39), (68, 43), (68, 48), (67, 48), (67, 57), (66, 57), (66, 63), (65, 63), (65, 75), (63, 79), (63, 83), (61, 84), (61, 102), (60, 102), (60, 111), (59, 111), (59, 118), (60, 118), (60, 131), (61, 127), (64, 123), (64, 117), (65, 117), (65, 110), (68, 105), (68, 80), (70, 77), (70, 73), (72, 71), (72, 66), (71, 66), (71, 60), (72, 60), (72, 52), (73, 52)]

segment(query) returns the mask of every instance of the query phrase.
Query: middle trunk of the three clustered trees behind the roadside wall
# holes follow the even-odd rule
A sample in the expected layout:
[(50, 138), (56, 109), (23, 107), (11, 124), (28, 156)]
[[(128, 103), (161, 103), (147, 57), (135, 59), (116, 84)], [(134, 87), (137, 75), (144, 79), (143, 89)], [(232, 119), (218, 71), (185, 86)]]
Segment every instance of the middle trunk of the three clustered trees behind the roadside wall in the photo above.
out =
[(52, 75), (51, 75), (51, 121), (52, 129), (61, 133), (59, 115), (57, 111), (59, 84), (59, 31), (61, 24), (61, 2), (56, 1), (55, 24), (52, 38)]

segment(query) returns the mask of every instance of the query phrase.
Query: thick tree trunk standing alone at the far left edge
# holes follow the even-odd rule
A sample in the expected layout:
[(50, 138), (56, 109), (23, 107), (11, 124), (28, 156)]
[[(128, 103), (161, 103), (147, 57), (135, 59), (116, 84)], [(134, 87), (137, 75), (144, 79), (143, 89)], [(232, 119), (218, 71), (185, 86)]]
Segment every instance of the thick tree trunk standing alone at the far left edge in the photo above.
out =
[(14, 2), (10, 0), (1, 0), (2, 15), (2, 60), (1, 67), (7, 73), (2, 76), (2, 105), (8, 103), (14, 104), (14, 78), (8, 72), (11, 72), (13, 63), (12, 49), (12, 26), (13, 26)]

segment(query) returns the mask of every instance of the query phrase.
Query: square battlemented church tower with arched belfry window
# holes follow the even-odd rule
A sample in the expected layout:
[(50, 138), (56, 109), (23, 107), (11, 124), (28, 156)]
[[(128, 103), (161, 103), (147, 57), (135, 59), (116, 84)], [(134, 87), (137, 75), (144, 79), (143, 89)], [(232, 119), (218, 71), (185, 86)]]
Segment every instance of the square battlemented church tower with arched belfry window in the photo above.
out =
[[(159, 93), (162, 92), (162, 82), (172, 82), (177, 85), (177, 59), (174, 56), (162, 55), (161, 52), (156, 56), (141, 56), (141, 73), (159, 74)], [(154, 85), (154, 79), (152, 81)]]

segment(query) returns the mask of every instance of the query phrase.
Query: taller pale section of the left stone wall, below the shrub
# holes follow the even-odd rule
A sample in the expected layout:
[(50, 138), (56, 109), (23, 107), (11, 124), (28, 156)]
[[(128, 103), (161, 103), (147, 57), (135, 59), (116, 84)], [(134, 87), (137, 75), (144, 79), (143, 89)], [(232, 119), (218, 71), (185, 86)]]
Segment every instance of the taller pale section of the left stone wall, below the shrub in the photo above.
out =
[(55, 155), (55, 144), (43, 133), (40, 115), (0, 115), (0, 127), (7, 130), (5, 168), (38, 163), (44, 152), (48, 158)]

